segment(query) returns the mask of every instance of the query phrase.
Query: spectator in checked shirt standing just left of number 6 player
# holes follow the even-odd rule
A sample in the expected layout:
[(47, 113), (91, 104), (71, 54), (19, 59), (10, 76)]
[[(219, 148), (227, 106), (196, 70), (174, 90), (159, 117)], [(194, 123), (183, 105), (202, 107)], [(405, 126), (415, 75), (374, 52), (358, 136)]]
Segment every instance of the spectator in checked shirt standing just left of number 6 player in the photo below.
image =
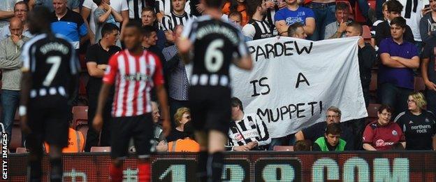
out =
[[(183, 26), (176, 25), (173, 30), (175, 41), (182, 34)], [(170, 101), (170, 115), (174, 116), (177, 109), (188, 106), (189, 80), (186, 67), (180, 55), (177, 54), (177, 45), (171, 45), (163, 49), (166, 64), (164, 72), (168, 75), (168, 99)], [(174, 118), (172, 118), (173, 120)]]

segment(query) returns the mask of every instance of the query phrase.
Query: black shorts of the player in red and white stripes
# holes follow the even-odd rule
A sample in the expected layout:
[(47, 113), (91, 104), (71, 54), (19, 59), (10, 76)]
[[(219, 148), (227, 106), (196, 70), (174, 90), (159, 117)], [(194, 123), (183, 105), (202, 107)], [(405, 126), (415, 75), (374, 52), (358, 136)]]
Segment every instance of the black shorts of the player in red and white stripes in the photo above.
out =
[(138, 158), (150, 157), (153, 136), (152, 114), (112, 118), (110, 123), (110, 157), (124, 159), (128, 155), (129, 141), (133, 138)]

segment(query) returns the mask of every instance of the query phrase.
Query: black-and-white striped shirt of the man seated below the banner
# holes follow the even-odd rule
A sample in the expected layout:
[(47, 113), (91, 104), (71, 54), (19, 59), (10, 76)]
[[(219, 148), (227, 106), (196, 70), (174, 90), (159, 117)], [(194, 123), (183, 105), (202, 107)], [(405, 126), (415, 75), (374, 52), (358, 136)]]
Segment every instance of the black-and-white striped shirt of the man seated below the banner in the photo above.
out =
[(227, 136), (226, 148), (229, 150), (233, 146), (244, 146), (252, 141), (257, 141), (258, 146), (266, 146), (271, 142), (268, 128), (255, 113), (244, 114), (242, 120), (232, 121)]

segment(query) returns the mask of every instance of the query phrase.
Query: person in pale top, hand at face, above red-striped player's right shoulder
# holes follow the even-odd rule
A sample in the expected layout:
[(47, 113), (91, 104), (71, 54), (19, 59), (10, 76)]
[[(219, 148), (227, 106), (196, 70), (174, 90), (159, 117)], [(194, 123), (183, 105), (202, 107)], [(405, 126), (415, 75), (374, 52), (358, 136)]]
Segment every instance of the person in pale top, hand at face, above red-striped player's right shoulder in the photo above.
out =
[(112, 7), (109, 6), (109, 0), (93, 0), (94, 3), (98, 6), (96, 10), (94, 10), (94, 20), (96, 27), (96, 34), (94, 41), (97, 42), (101, 38), (101, 29), (105, 23), (112, 23), (115, 25), (115, 22), (122, 22), (122, 16), (117, 13), (117, 11), (113, 10)]

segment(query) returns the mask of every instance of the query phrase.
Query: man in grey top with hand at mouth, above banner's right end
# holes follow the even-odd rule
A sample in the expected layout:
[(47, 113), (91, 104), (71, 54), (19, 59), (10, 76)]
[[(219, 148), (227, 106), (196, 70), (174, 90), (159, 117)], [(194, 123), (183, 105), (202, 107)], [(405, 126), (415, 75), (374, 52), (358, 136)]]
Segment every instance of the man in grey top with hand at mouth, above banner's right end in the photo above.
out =
[(326, 26), (324, 39), (345, 37), (347, 25), (351, 22), (349, 20), (349, 7), (347, 3), (339, 2), (336, 4), (335, 18), (335, 22)]

